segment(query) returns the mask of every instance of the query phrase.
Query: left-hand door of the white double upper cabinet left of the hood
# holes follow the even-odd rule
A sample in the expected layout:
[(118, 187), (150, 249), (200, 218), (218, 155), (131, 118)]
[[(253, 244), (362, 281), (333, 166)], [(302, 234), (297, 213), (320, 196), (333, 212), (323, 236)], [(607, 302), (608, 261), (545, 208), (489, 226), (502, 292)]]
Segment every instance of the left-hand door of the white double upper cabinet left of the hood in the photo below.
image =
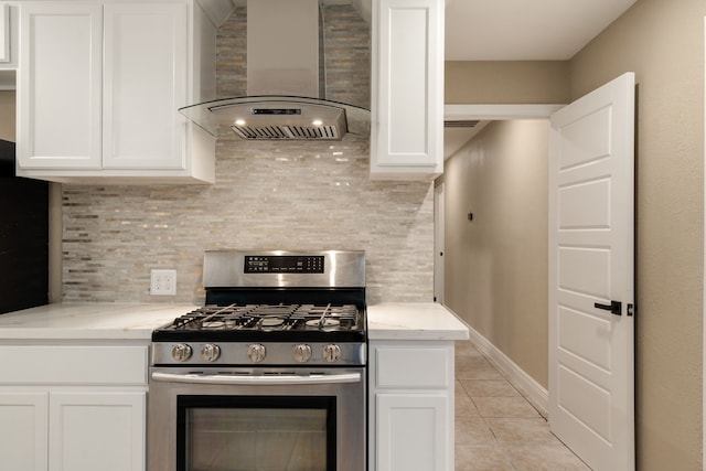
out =
[(101, 6), (20, 2), (18, 161), (100, 167)]

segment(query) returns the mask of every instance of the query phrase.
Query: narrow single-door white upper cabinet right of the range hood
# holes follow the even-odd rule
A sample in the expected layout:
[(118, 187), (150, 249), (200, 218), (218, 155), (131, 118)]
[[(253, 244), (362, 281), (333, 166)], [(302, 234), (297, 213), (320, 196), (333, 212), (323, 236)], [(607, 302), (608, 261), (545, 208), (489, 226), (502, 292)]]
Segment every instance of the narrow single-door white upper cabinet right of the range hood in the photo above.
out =
[(443, 0), (378, 0), (373, 14), (371, 178), (443, 171)]

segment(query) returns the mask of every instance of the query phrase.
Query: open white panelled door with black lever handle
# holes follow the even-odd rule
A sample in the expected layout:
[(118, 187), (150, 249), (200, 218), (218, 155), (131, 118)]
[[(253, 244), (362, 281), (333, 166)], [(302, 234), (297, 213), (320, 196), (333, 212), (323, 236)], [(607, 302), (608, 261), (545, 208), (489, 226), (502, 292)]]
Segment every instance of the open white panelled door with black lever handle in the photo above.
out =
[(550, 117), (549, 426), (596, 471), (634, 470), (633, 200), (628, 73)]

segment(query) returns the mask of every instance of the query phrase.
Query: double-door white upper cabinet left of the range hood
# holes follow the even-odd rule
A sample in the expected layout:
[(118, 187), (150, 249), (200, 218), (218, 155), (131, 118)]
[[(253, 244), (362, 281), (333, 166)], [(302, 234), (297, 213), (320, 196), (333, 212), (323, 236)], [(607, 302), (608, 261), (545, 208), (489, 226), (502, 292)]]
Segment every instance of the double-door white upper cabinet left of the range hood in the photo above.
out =
[(212, 98), (200, 90), (215, 64), (192, 67), (215, 47), (204, 17), (195, 0), (21, 3), (18, 174), (212, 183), (215, 140), (178, 111)]

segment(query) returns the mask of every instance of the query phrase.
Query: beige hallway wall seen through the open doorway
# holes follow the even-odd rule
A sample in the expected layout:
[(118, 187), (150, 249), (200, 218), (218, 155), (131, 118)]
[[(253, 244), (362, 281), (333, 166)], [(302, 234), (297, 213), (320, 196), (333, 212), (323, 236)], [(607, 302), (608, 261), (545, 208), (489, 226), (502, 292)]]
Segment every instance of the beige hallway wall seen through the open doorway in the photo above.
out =
[(547, 139), (546, 120), (491, 122), (443, 178), (445, 303), (544, 387)]

